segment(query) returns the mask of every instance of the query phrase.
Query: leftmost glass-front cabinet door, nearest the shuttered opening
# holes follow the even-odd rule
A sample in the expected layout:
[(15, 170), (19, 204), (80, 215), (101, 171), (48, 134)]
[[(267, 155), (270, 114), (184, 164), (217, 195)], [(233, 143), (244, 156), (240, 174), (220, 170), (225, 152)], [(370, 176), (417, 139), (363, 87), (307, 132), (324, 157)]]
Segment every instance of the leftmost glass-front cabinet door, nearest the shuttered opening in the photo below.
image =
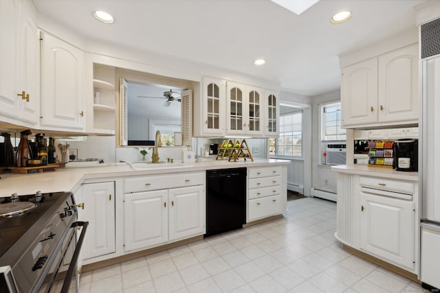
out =
[(224, 134), (225, 81), (203, 77), (203, 134)]

